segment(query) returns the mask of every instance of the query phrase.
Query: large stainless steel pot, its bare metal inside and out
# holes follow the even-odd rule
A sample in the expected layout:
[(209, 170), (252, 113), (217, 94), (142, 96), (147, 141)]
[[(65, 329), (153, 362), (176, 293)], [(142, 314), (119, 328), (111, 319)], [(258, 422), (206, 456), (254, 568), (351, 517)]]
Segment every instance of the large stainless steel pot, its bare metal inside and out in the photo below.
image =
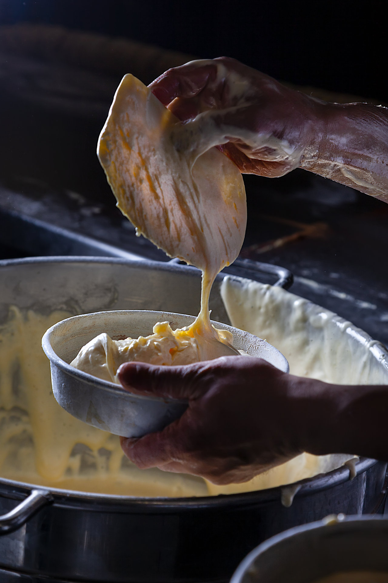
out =
[[(212, 291), (212, 318), (229, 323), (221, 281), (219, 276)], [(4, 317), (10, 304), (45, 313), (196, 314), (200, 274), (176, 264), (112, 258), (2, 261), (0, 298)], [(386, 463), (361, 459), (356, 469), (353, 480), (348, 468), (304, 480), (290, 508), (281, 503), (282, 487), (217, 497), (135, 498), (47, 491), (0, 479), (0, 512), (11, 511), (0, 519), (0, 566), (56, 581), (227, 581), (247, 552), (275, 533), (332, 513), (381, 512)], [(20, 500), (24, 504), (12, 512)]]

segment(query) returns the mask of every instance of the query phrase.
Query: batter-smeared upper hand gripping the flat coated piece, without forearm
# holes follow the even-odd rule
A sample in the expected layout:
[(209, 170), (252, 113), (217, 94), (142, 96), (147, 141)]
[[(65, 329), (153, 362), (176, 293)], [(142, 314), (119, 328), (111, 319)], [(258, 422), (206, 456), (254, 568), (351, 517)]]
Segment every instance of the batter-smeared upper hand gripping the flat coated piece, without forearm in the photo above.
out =
[(322, 102), (235, 59), (191, 61), (149, 87), (185, 122), (173, 140), (194, 159), (218, 146), (241, 172), (273, 178), (316, 150)]

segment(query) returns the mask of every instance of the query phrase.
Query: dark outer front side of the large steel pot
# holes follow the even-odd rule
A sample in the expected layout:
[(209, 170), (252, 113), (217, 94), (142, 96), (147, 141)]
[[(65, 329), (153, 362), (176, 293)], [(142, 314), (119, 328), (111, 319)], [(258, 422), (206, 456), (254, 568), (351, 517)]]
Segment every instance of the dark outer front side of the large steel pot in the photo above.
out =
[[(0, 538), (0, 565), (65, 580), (226, 582), (253, 547), (284, 529), (333, 512), (379, 511), (386, 464), (364, 459), (357, 471), (351, 481), (347, 468), (305, 480), (290, 508), (281, 488), (175, 499), (41, 489), (24, 506), (26, 524)], [(1, 512), (30, 488), (0, 480)]]

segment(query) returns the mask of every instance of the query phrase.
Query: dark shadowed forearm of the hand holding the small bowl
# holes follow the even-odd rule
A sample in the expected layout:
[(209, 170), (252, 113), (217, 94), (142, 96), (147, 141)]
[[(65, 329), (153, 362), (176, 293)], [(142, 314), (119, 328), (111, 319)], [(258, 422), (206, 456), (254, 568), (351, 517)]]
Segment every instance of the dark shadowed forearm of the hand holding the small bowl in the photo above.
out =
[(388, 461), (388, 386), (306, 381), (314, 399), (303, 390), (298, 396), (306, 399), (301, 449), (315, 455), (357, 454)]

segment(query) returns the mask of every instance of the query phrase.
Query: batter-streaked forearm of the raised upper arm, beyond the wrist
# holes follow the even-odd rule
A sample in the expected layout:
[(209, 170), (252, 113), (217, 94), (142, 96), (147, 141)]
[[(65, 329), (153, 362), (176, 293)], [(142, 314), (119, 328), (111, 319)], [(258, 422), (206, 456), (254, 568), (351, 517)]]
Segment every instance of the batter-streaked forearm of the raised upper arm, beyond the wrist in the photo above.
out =
[(388, 108), (322, 104), (300, 167), (388, 202)]

